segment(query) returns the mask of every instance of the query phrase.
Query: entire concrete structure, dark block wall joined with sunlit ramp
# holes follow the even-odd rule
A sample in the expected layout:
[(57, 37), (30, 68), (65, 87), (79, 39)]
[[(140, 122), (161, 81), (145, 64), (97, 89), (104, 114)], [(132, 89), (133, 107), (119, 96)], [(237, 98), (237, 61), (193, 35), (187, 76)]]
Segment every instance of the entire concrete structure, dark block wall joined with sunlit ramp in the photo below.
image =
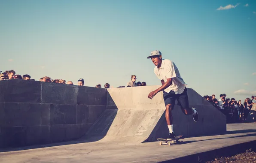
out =
[[(93, 88), (27, 80), (0, 82), (0, 148), (70, 140), (142, 143), (168, 136), (159, 85)], [(174, 130), (186, 137), (226, 132), (226, 116), (188, 88), (199, 121), (173, 110)], [(82, 140), (82, 141), (81, 141)]]

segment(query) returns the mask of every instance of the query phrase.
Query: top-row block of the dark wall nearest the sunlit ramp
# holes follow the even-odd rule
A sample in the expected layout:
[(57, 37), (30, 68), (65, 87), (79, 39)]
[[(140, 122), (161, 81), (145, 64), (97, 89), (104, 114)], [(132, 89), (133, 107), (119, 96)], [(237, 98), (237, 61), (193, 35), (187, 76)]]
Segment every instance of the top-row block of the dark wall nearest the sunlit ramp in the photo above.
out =
[(106, 89), (78, 87), (78, 105), (106, 105)]

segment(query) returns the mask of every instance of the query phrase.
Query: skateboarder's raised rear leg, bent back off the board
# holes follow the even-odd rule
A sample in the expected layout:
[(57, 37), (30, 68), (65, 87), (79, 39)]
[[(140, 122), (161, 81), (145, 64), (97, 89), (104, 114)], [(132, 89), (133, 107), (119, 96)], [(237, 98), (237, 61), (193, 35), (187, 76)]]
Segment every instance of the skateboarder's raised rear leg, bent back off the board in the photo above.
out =
[(185, 115), (193, 115), (194, 121), (198, 121), (198, 113), (195, 107), (189, 107), (189, 98), (187, 94), (187, 88), (184, 89), (182, 94), (177, 94), (176, 99), (178, 101), (178, 105), (180, 106), (182, 112)]

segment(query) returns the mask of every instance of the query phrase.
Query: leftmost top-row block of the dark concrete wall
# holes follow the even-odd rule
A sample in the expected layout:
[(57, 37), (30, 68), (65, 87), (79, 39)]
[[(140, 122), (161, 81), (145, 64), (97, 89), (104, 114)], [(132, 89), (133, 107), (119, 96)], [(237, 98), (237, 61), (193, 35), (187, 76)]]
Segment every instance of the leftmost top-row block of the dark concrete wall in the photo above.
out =
[(0, 102), (40, 103), (41, 84), (29, 80), (4, 80), (0, 82)]

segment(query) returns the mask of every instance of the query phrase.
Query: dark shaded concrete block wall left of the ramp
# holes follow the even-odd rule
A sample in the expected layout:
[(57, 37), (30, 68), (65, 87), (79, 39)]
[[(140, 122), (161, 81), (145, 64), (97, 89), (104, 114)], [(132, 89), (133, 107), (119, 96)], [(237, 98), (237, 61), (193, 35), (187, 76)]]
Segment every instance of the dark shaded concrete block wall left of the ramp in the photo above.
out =
[(106, 89), (1, 81), (0, 148), (80, 138), (105, 109)]

